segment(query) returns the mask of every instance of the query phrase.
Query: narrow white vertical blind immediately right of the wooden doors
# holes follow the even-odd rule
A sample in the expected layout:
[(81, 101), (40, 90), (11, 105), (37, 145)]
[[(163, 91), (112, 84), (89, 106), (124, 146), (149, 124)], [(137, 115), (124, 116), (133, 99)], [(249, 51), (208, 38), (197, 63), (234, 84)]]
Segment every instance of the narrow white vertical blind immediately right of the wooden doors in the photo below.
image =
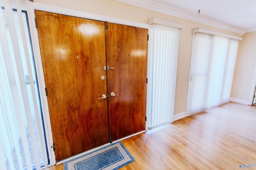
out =
[(160, 24), (150, 26), (149, 48), (153, 55), (152, 65), (148, 65), (148, 74), (152, 74), (148, 88), (152, 90), (147, 120), (150, 128), (173, 122), (179, 36), (179, 28)]

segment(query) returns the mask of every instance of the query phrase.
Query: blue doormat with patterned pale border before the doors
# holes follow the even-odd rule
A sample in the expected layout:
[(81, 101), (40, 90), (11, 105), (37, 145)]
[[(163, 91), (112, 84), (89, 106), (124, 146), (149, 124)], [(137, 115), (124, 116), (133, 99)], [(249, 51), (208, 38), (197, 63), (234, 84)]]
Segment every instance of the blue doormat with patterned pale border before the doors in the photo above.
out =
[(112, 143), (63, 163), (64, 170), (118, 170), (134, 161), (121, 142)]

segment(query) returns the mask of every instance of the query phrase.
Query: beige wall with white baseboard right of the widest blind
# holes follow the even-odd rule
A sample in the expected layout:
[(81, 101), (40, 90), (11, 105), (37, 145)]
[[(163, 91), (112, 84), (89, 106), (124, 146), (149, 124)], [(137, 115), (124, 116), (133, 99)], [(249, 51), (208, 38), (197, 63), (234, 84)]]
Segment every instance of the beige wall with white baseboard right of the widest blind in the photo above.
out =
[(238, 46), (230, 100), (251, 105), (256, 87), (256, 31), (245, 33), (242, 38)]

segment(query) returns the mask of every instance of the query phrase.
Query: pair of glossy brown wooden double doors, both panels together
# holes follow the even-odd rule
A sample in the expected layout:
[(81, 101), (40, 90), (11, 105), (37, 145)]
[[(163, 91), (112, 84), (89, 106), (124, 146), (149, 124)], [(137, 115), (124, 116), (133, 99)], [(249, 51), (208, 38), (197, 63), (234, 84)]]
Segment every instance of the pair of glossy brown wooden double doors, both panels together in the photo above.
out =
[(35, 16), (56, 161), (145, 130), (148, 30)]

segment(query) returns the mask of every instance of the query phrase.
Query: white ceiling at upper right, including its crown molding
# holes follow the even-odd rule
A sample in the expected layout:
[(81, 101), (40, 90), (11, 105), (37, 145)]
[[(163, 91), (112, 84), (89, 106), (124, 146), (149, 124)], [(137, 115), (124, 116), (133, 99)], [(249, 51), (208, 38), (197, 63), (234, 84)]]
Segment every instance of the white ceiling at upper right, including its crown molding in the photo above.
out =
[[(243, 34), (256, 31), (256, 0), (118, 0)], [(200, 10), (200, 13), (199, 13)]]

